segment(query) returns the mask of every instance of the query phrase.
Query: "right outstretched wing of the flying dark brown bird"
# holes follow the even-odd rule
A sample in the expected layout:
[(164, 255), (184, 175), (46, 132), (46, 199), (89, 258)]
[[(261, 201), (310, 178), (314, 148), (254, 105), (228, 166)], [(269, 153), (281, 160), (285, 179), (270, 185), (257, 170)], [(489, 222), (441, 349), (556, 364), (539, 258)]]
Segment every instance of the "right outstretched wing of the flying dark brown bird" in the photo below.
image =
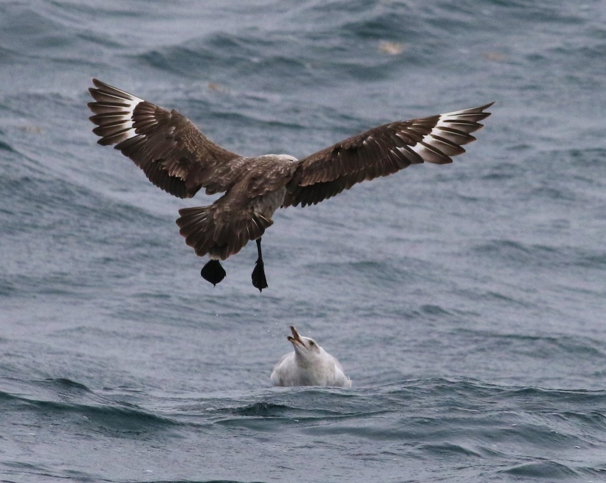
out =
[(461, 145), (476, 140), (470, 133), (482, 128), (478, 121), (490, 116), (484, 110), (492, 104), (391, 122), (318, 151), (299, 161), (284, 206), (315, 205), (355, 183), (411, 164), (451, 163), (451, 156), (465, 153)]

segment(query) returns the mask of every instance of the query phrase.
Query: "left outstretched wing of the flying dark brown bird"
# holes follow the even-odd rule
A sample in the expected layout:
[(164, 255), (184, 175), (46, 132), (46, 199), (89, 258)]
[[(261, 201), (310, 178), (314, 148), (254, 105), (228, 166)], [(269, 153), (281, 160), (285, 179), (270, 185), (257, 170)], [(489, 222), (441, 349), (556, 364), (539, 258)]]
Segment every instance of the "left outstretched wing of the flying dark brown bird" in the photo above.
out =
[[(240, 156), (224, 150), (202, 134), (177, 111), (93, 79), (88, 89), (95, 102), (88, 108), (98, 127), (93, 133), (102, 145), (115, 145), (132, 159), (145, 176), (164, 191), (190, 198), (200, 188), (208, 194), (225, 191), (232, 177), (226, 165)], [(219, 169), (221, 168), (221, 169)], [(220, 173), (219, 173), (220, 172)]]

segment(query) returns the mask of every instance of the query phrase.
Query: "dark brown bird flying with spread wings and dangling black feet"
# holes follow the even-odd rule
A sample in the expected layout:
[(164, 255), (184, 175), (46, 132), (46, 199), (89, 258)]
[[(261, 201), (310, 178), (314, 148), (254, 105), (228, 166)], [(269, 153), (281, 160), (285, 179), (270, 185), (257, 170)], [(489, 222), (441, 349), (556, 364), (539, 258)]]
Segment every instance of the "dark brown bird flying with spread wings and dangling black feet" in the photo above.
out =
[(390, 122), (349, 137), (298, 160), (288, 154), (244, 157), (209, 140), (174, 109), (158, 107), (140, 97), (93, 79), (95, 99), (88, 107), (101, 145), (115, 145), (159, 188), (191, 198), (201, 188), (224, 192), (208, 206), (183, 208), (179, 233), (196, 255), (210, 261), (201, 275), (217, 284), (225, 277), (219, 259), (238, 253), (256, 240), (258, 259), (251, 275), (261, 291), (267, 287), (261, 236), (273, 225), (278, 208), (315, 205), (356, 183), (388, 176), (411, 164), (451, 163), (464, 153), (461, 145), (490, 116), (481, 107), (436, 116)]

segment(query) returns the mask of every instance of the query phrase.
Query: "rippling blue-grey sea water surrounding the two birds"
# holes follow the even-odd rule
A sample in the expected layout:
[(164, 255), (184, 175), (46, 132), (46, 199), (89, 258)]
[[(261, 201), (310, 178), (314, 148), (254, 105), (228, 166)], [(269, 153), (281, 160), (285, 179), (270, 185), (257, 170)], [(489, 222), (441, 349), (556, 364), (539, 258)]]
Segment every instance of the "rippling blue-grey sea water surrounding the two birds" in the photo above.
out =
[[(212, 287), (98, 77), (236, 153), (496, 101)], [(601, 0), (0, 2), (0, 481), (606, 481)], [(210, 199), (212, 200), (212, 199)], [(273, 388), (294, 324), (351, 389)]]

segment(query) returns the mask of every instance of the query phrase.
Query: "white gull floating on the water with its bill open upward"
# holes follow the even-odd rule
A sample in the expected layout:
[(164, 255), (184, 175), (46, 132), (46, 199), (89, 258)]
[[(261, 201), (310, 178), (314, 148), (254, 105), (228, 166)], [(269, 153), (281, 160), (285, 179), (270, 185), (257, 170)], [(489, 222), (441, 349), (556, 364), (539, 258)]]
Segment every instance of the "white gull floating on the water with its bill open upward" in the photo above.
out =
[(351, 387), (351, 379), (345, 376), (343, 366), (309, 337), (301, 337), (290, 326), (292, 337), (288, 341), (294, 352), (284, 354), (271, 372), (274, 386), (338, 386)]

